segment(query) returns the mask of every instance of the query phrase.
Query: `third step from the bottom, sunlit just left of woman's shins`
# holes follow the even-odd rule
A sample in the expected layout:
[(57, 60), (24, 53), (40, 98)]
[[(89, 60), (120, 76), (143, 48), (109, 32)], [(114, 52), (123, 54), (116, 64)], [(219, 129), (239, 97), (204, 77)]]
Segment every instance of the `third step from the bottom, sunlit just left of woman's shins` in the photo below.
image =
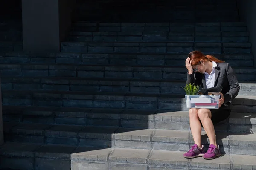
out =
[[(256, 115), (232, 109), (230, 117), (215, 126), (217, 131), (256, 132)], [(244, 110), (244, 112), (242, 112)], [(239, 113), (241, 111), (242, 113)], [(236, 113), (238, 112), (238, 113)], [(188, 111), (3, 105), (3, 121), (9, 123), (66, 124), (127, 128), (189, 130)]]

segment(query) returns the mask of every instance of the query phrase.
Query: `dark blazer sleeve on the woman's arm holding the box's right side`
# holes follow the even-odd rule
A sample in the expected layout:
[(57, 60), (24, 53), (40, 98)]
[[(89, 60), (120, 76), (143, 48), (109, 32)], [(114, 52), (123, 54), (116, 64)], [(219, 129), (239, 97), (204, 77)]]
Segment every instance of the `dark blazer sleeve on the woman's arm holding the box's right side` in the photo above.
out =
[(229, 92), (227, 92), (224, 95), (224, 104), (227, 104), (228, 102), (232, 102), (234, 100), (234, 98), (238, 95), (238, 92), (240, 90), (240, 86), (238, 84), (236, 75), (233, 72), (233, 69), (231, 68), (231, 66), (227, 63), (226, 66), (226, 74), (227, 74), (227, 80), (230, 86), (230, 90)]

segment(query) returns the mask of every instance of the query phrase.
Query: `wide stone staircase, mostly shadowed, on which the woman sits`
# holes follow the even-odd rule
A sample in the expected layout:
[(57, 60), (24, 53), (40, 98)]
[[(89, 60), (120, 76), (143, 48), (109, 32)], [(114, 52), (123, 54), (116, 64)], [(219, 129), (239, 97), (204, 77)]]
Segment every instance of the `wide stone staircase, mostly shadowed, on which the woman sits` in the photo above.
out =
[[(225, 1), (215, 2), (226, 8)], [(256, 169), (256, 68), (246, 23), (225, 17), (112, 23), (111, 14), (106, 17), (109, 22), (75, 21), (60, 53), (0, 57), (6, 141), (0, 168)], [(193, 50), (230, 63), (241, 87), (232, 114), (215, 126), (224, 153), (215, 160), (182, 157), (193, 144), (181, 88)], [(202, 141), (209, 145), (204, 130)]]

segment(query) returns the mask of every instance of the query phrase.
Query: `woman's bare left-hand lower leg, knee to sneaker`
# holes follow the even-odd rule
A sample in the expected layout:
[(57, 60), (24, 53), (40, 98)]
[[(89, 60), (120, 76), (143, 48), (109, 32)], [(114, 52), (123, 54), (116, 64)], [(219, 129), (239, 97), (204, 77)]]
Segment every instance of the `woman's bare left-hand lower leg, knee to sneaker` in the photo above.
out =
[(201, 148), (202, 147), (202, 143), (201, 143), (202, 127), (198, 117), (198, 109), (189, 109), (189, 124), (190, 124), (190, 129), (193, 135), (194, 142), (195, 144), (198, 145), (198, 147)]

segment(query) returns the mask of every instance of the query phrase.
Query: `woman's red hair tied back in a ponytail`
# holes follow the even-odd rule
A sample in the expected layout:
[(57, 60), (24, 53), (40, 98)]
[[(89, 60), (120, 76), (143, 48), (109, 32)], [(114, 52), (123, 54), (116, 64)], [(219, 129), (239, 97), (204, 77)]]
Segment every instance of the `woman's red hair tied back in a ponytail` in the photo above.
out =
[(192, 66), (198, 65), (200, 60), (210, 61), (210, 62), (214, 61), (216, 63), (224, 63), (225, 62), (225, 61), (219, 60), (218, 58), (215, 58), (212, 55), (204, 55), (202, 52), (199, 52), (199, 51), (190, 52), (188, 57), (191, 58), (191, 60), (192, 60), (192, 62), (191, 62)]

